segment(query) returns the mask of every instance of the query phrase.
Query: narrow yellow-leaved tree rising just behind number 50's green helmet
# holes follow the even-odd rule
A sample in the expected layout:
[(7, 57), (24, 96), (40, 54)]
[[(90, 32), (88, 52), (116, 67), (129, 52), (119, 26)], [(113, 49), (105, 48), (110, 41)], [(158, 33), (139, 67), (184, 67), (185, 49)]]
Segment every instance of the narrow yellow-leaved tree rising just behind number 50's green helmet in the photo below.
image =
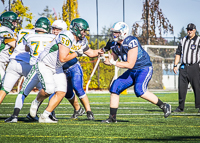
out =
[(71, 21), (79, 17), (77, 0), (66, 0), (66, 4), (65, 2), (63, 3), (62, 10), (62, 18), (67, 23), (69, 29)]

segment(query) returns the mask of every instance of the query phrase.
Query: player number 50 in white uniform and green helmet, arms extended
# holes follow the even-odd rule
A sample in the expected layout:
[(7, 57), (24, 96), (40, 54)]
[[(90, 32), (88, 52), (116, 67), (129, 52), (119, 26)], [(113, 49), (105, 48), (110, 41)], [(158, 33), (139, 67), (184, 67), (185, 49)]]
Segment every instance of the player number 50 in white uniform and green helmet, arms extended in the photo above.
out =
[(38, 94), (32, 102), (30, 114), (36, 116), (40, 102), (55, 92), (49, 101), (49, 105), (39, 118), (40, 123), (57, 123), (49, 118), (51, 112), (59, 105), (66, 94), (66, 76), (63, 73), (62, 65), (77, 56), (86, 54), (90, 57), (98, 56), (99, 50), (92, 50), (88, 47), (85, 36), (89, 31), (88, 23), (82, 18), (72, 20), (70, 31), (62, 31), (41, 53), (36, 64), (36, 71), (46, 96)]

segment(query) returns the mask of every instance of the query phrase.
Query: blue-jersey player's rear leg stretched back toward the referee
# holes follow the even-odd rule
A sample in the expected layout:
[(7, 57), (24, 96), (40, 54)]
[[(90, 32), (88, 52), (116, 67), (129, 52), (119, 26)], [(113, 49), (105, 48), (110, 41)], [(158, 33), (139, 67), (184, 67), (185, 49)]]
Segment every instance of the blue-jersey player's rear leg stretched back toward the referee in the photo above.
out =
[[(137, 73), (134, 75), (135, 84), (134, 91), (137, 97), (141, 97), (158, 107), (160, 107), (164, 112), (164, 117), (167, 118), (171, 114), (171, 105), (163, 103), (155, 94), (147, 91), (148, 83), (152, 77), (153, 68), (147, 67), (144, 69), (137, 70)], [(132, 75), (133, 77), (133, 75)]]

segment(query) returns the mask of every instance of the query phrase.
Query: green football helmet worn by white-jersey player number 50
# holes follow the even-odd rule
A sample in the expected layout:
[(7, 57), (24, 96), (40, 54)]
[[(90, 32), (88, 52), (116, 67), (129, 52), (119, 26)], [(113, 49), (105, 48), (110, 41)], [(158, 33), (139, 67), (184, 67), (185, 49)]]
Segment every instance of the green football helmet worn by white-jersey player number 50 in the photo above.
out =
[(87, 23), (87, 21), (85, 21), (82, 18), (76, 18), (76, 19), (72, 20), (72, 22), (70, 24), (70, 30), (79, 39), (82, 39), (81, 31), (84, 30), (85, 32), (87, 32), (87, 34), (89, 34), (90, 28), (89, 28), (89, 24)]

